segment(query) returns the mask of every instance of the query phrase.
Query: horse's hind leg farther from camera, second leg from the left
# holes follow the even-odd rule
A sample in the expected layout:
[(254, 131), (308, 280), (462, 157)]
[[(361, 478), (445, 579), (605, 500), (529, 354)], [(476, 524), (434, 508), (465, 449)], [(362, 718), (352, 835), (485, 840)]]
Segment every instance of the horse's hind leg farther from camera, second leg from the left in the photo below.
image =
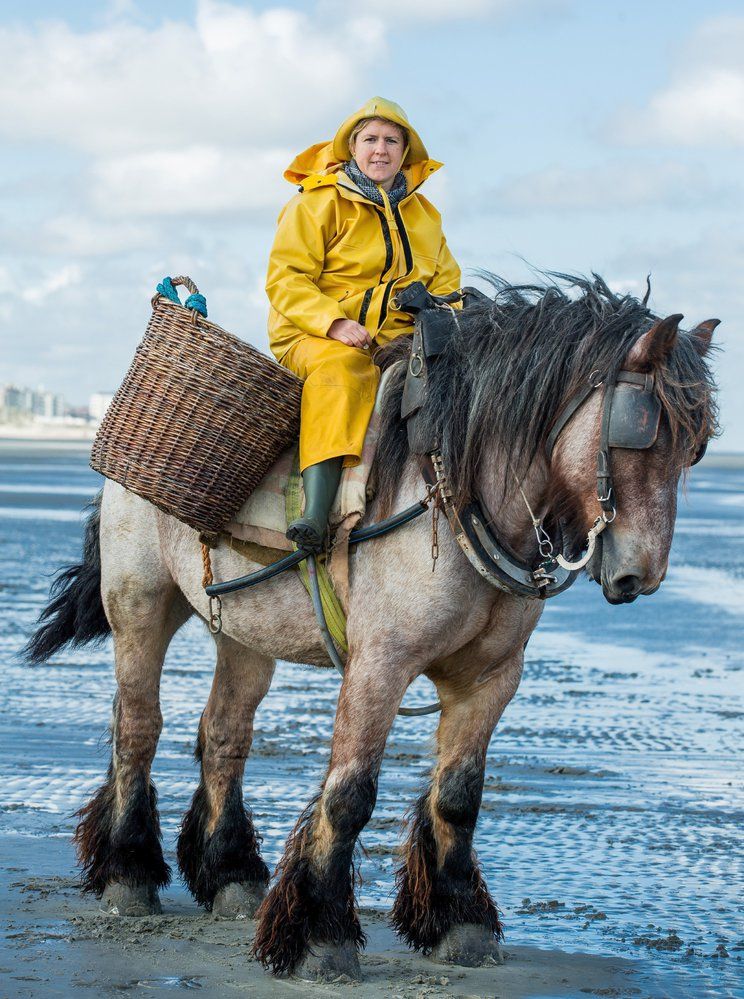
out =
[(178, 837), (178, 866), (200, 905), (234, 919), (254, 914), (269, 880), (243, 804), (243, 770), (274, 660), (226, 635), (215, 642), (217, 667), (196, 743), (201, 779)]

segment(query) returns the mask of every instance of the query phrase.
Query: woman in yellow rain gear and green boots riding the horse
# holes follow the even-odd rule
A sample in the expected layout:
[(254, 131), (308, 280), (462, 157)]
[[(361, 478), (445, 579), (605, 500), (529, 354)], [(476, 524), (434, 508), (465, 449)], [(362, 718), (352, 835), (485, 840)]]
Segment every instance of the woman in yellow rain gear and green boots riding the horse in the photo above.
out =
[(271, 349), (305, 383), (305, 510), (287, 530), (300, 548), (322, 549), (341, 469), (361, 458), (379, 382), (374, 351), (413, 329), (396, 291), (413, 281), (436, 295), (460, 286), (439, 212), (419, 193), (441, 166), (403, 109), (374, 97), (285, 171), (300, 193), (279, 216), (266, 291)]

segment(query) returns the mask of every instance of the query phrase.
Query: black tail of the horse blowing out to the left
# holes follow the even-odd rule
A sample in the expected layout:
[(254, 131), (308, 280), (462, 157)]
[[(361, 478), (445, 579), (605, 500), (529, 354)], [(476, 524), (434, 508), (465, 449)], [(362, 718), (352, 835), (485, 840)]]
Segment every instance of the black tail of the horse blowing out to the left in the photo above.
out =
[(39, 615), (36, 631), (21, 652), (28, 663), (44, 663), (65, 645), (100, 642), (111, 634), (101, 600), (102, 492), (90, 504), (82, 561), (59, 571), (49, 591), (49, 603)]

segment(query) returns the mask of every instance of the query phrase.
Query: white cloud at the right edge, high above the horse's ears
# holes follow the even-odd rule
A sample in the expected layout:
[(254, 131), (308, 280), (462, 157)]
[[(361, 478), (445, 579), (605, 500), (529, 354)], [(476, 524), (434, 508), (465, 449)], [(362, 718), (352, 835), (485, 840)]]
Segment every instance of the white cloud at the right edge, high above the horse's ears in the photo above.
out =
[(695, 32), (672, 79), (641, 111), (613, 127), (629, 144), (744, 146), (744, 17), (719, 17)]

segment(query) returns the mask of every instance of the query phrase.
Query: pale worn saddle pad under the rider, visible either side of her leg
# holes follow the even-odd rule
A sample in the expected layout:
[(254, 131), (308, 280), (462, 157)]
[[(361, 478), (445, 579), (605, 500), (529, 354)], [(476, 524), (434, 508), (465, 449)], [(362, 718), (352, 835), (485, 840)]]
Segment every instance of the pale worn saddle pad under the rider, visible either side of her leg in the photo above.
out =
[[(341, 483), (331, 509), (329, 523), (331, 531), (348, 533), (357, 524), (367, 508), (367, 481), (372, 463), (377, 453), (377, 440), (380, 433), (382, 398), (393, 365), (385, 371), (377, 389), (375, 408), (369, 421), (362, 448), (362, 460), (354, 468), (345, 468)], [(286, 489), (292, 469), (297, 461), (297, 444), (284, 451), (261, 479), (250, 498), (224, 528), (225, 533), (240, 541), (253, 542), (265, 548), (278, 548), (281, 551), (294, 551), (292, 542), (285, 532)]]

